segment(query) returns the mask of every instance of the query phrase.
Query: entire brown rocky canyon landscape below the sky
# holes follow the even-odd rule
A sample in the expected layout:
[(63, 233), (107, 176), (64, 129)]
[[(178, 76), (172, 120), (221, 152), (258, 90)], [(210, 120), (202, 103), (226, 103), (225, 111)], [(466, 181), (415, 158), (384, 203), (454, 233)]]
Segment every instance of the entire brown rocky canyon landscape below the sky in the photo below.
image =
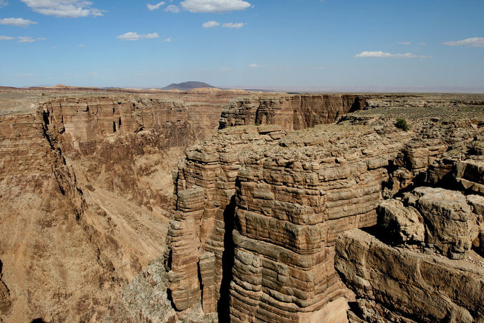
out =
[(480, 94), (0, 88), (0, 322), (484, 322), (483, 131)]

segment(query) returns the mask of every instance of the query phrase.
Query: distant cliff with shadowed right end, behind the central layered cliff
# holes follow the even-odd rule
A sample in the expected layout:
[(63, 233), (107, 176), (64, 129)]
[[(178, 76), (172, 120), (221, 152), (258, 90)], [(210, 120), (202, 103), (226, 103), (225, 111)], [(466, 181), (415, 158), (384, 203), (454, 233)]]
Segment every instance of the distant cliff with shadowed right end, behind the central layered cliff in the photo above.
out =
[(299, 130), (331, 123), (349, 111), (366, 107), (360, 95), (266, 95), (234, 99), (222, 111), (219, 129), (251, 124), (278, 124)]

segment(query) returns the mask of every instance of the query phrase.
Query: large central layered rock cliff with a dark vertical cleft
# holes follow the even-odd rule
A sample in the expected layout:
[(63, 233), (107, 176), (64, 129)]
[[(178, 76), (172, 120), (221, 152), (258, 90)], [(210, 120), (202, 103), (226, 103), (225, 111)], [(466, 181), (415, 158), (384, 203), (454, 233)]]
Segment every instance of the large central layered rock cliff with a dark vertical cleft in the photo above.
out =
[(226, 129), (178, 165), (168, 267), (179, 311), (199, 297), (216, 311), (230, 289), (234, 322), (298, 322), (351, 297), (333, 268), (335, 238), (375, 224), (386, 167), (411, 134), (278, 128)]

